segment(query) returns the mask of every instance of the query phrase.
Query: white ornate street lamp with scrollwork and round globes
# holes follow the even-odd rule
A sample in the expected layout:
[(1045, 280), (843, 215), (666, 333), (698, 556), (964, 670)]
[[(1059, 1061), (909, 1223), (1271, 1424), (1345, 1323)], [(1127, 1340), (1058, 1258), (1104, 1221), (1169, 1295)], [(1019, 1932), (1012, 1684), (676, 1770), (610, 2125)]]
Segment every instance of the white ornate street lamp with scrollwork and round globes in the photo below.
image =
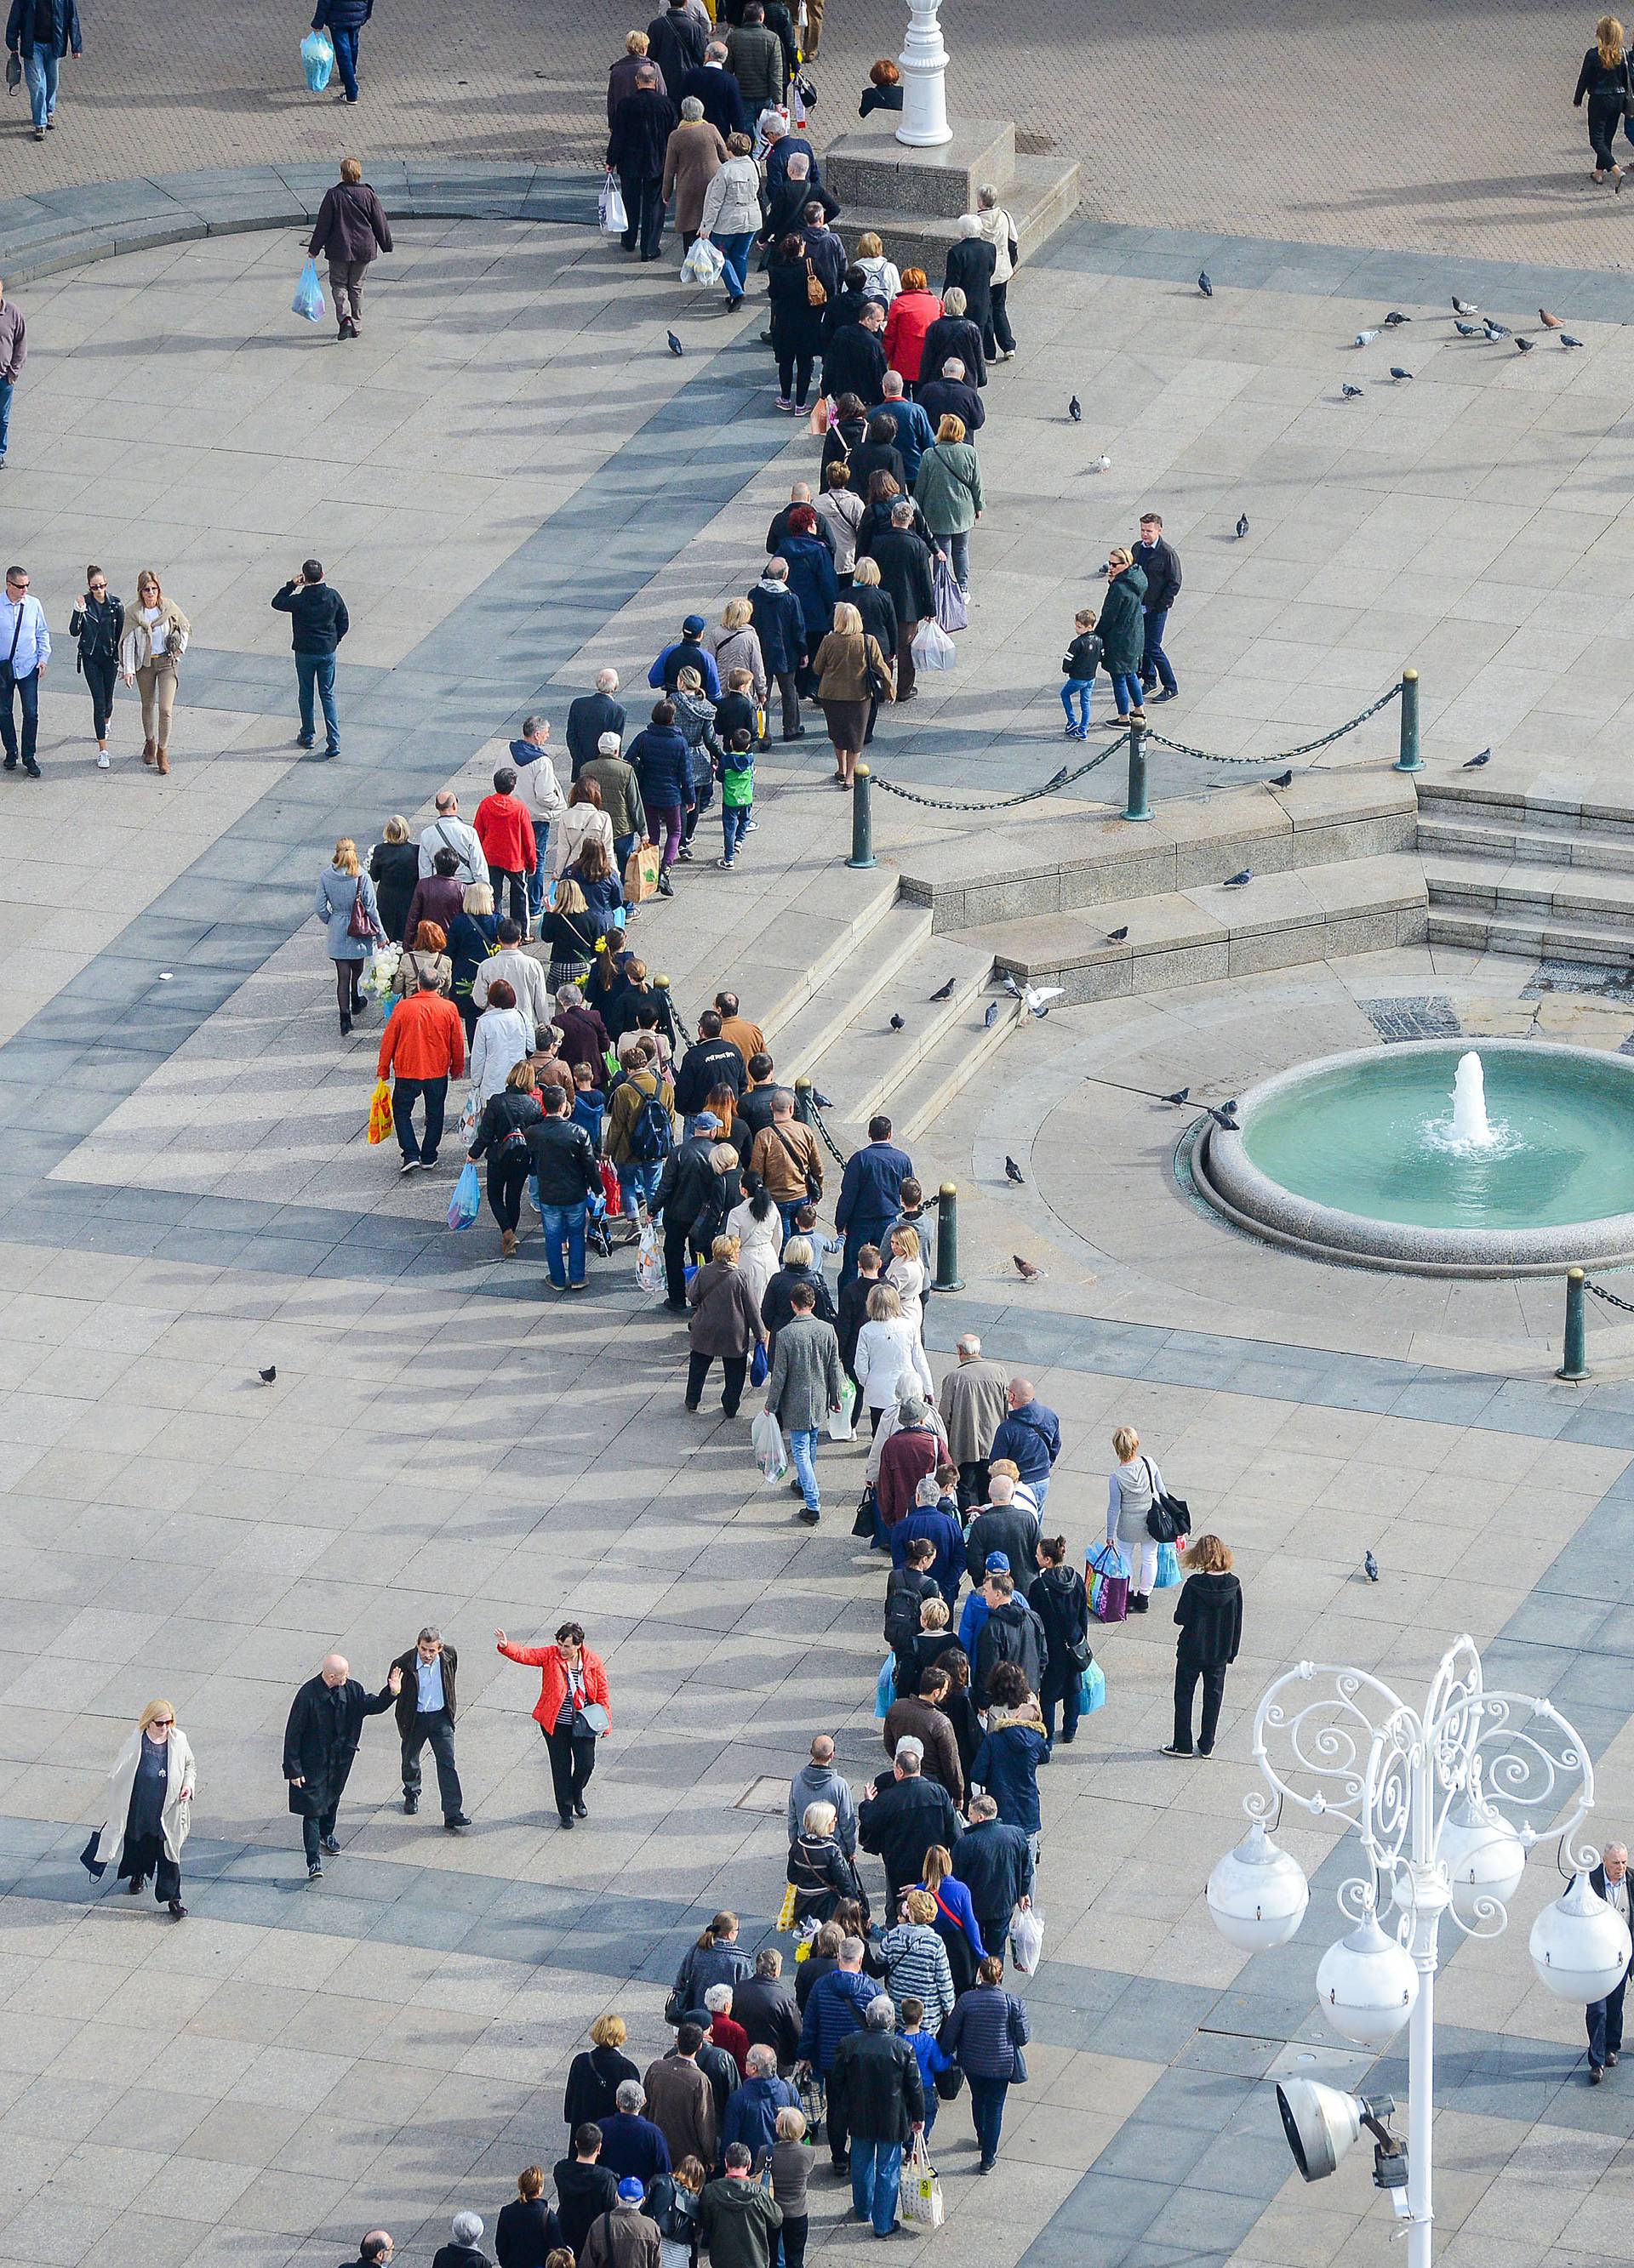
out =
[[(1303, 1699), (1307, 1687), (1316, 1692)], [(1355, 1926), (1321, 1960), (1321, 2009), (1344, 2039), (1373, 2050), (1409, 2025), (1407, 2148), (1384, 2125), (1389, 2098), (1307, 2080), (1278, 2089), (1289, 2148), (1305, 2180), (1316, 2182), (1362, 2127), (1371, 2130), (1373, 2180), (1407, 2220), (1407, 2263), (1430, 2268), (1441, 1916), (1452, 1914), (1466, 1937), (1498, 1937), (1527, 1853), (1557, 1837), (1568, 1862), (1561, 1871), (1577, 1871), (1532, 1926), (1532, 1966), (1561, 2000), (1584, 2005), (1614, 1991), (1629, 1962), (1629, 1932), (1589, 1887), (1595, 1853), (1570, 1851), (1593, 1808), (1593, 1765), (1548, 1701), (1486, 1692), (1471, 1637), (1441, 1656), (1423, 1712), (1364, 1669), (1300, 1662), (1264, 1692), (1253, 1755), (1271, 1794), (1244, 1796), (1253, 1828), (1210, 1876), (1214, 1923), (1246, 1950), (1285, 1946), (1305, 1916), (1307, 1885), (1298, 1862), (1269, 1839), (1266, 1819), (1285, 1801), (1319, 1819), (1344, 1819), (1362, 1839), (1366, 1873), (1339, 1889), (1339, 1910)], [(1570, 1817), (1555, 1823), (1566, 1805)], [(1391, 1905), (1398, 1919), (1387, 1935), (1380, 1907)]]

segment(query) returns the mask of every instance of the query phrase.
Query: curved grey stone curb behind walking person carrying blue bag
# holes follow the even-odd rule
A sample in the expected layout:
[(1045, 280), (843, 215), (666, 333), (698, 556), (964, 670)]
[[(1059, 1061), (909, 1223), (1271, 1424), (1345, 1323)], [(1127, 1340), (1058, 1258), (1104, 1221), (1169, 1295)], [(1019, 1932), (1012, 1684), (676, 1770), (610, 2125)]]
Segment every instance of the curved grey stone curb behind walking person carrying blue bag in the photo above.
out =
[[(386, 159), (368, 168), (393, 220), (542, 220), (597, 225), (599, 175), (572, 166), (431, 166)], [(182, 245), (245, 229), (300, 229), (336, 181), (334, 163), (220, 166), (134, 181), (86, 181), (0, 202), (7, 284), (86, 261)]]

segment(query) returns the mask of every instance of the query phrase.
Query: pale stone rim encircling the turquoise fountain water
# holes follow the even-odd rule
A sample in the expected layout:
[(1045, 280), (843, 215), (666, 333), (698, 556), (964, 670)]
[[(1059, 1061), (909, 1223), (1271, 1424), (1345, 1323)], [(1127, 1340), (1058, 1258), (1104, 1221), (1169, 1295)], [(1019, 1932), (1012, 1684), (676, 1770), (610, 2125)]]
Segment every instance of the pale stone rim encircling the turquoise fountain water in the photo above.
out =
[[(1330, 1070), (1378, 1064), (1382, 1055), (1443, 1055), (1457, 1064), (1464, 1055), (1548, 1055), (1550, 1061), (1575, 1059), (1611, 1080), (1629, 1082), (1634, 1111), (1634, 1061), (1602, 1048), (1573, 1048), (1539, 1039), (1407, 1039), (1371, 1048), (1346, 1048), (1339, 1055), (1309, 1057), (1287, 1070), (1257, 1080), (1237, 1100), (1244, 1129), (1255, 1111), (1278, 1098), (1309, 1086)], [(1614, 1068), (1620, 1066), (1620, 1068)], [(1312, 1259), (1353, 1268), (1387, 1268), (1405, 1275), (1502, 1277), (1555, 1275), (1568, 1266), (1616, 1266), (1634, 1261), (1634, 1211), (1607, 1213), (1600, 1220), (1564, 1222), (1552, 1229), (1437, 1229), (1407, 1220), (1373, 1220), (1334, 1204), (1300, 1198), (1271, 1179), (1248, 1159), (1241, 1134), (1205, 1125), (1191, 1154), (1198, 1193), (1237, 1227), (1266, 1243), (1305, 1252)]]

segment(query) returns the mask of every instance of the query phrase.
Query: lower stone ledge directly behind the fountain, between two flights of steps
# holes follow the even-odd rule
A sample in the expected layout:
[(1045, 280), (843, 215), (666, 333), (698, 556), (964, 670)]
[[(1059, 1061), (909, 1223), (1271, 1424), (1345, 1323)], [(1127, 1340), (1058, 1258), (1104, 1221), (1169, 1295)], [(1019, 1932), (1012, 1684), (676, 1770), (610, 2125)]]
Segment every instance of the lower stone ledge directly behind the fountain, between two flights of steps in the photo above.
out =
[[(1112, 930), (1128, 928), (1117, 943)], [(1035, 914), (967, 932), (994, 966), (1060, 984), (1069, 1002), (1114, 1000), (1212, 978), (1294, 968), (1421, 943), (1425, 882), (1407, 853), (1257, 873), (1244, 889), (1201, 885)]]

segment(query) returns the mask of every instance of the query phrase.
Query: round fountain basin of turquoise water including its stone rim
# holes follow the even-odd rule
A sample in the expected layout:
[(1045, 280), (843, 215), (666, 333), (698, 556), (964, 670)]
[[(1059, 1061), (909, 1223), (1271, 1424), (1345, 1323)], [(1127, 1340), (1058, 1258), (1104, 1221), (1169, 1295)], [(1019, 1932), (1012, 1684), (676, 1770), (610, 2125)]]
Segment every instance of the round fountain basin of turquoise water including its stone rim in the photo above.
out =
[(1321, 1259), (1416, 1275), (1545, 1275), (1634, 1259), (1634, 1059), (1482, 1041), (1489, 1141), (1459, 1139), (1468, 1041), (1325, 1055), (1207, 1125), (1201, 1193), (1239, 1227)]

